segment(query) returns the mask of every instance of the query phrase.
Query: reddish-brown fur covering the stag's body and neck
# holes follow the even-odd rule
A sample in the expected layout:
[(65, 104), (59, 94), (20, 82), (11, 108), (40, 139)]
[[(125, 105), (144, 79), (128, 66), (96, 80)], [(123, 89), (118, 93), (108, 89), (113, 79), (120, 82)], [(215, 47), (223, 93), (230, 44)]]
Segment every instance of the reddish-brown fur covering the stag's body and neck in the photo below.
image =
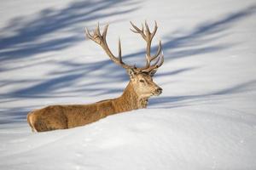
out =
[[(32, 111), (27, 115), (27, 122), (33, 132), (44, 132), (79, 127), (119, 112), (145, 108), (152, 93), (141, 98), (135, 90), (135, 84), (136, 82), (131, 80), (124, 93), (116, 99), (102, 100), (90, 105), (50, 105)], [(155, 91), (159, 87), (154, 84), (151, 88)]]

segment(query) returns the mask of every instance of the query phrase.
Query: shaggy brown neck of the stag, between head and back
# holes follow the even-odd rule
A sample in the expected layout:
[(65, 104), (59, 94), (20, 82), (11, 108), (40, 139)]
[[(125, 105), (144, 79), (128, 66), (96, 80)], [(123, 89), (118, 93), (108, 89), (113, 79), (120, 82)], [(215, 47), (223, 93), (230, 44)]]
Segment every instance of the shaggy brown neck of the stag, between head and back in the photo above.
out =
[(146, 108), (148, 98), (140, 97), (134, 90), (132, 83), (129, 82), (124, 93), (117, 99), (114, 99), (117, 112), (131, 111)]

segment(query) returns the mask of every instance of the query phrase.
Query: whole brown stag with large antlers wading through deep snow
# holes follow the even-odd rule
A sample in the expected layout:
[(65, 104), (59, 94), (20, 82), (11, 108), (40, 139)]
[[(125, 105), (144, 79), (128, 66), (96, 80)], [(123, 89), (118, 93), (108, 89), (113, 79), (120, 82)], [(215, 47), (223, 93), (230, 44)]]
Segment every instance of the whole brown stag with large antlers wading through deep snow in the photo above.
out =
[(149, 30), (146, 21), (141, 29), (131, 22), (131, 31), (141, 35), (147, 44), (146, 65), (142, 67), (125, 64), (122, 59), (120, 38), (118, 42), (119, 54), (118, 56), (113, 55), (106, 40), (108, 26), (108, 24), (104, 26), (102, 33), (99, 23), (92, 33), (85, 28), (85, 35), (99, 44), (113, 63), (126, 70), (130, 81), (123, 94), (115, 99), (105, 99), (88, 105), (49, 105), (43, 109), (31, 111), (27, 114), (27, 122), (32, 128), (32, 132), (80, 127), (106, 116), (143, 109), (147, 107), (149, 97), (158, 96), (162, 93), (162, 88), (153, 82), (155, 72), (164, 63), (161, 41), (159, 41), (156, 53), (151, 54), (151, 42), (158, 29), (156, 21), (154, 21), (153, 31)]

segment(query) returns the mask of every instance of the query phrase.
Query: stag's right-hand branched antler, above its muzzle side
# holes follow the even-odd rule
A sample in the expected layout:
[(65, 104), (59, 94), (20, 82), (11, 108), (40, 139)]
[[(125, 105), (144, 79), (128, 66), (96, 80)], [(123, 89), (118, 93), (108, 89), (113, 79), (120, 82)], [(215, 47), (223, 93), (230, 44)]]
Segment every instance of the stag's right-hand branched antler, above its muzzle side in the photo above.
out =
[[(150, 32), (150, 30), (148, 28), (147, 21), (145, 21), (146, 30), (144, 30), (144, 26), (142, 26), (142, 29), (139, 29), (131, 21), (130, 21), (130, 23), (131, 23), (131, 26), (135, 29), (135, 30), (131, 29), (131, 31), (140, 34), (143, 37), (143, 39), (147, 42), (147, 54), (146, 54), (147, 62), (146, 62), (146, 65), (143, 68), (139, 68), (139, 70), (148, 72), (148, 71), (152, 71), (154, 69), (159, 68), (164, 63), (164, 55), (163, 55), (163, 53), (161, 54), (161, 52), (162, 52), (161, 41), (159, 42), (159, 46), (158, 46), (158, 50), (157, 50), (156, 54), (151, 56), (151, 42), (152, 42), (152, 39), (153, 39), (155, 32), (157, 31), (157, 28), (158, 28), (156, 21), (154, 21), (154, 31), (152, 31), (152, 32)], [(154, 64), (150, 65), (151, 62), (154, 61), (155, 59), (156, 59), (156, 61), (154, 62)]]

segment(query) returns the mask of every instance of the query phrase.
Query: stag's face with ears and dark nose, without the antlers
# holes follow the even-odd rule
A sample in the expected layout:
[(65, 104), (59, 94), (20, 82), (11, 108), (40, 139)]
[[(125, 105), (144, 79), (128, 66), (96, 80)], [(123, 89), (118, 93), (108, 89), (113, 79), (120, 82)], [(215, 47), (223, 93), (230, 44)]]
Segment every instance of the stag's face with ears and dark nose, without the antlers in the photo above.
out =
[(142, 98), (148, 98), (153, 95), (158, 96), (162, 93), (162, 88), (153, 82), (153, 75), (151, 72), (137, 72), (135, 70), (130, 70), (128, 73), (134, 90)]

